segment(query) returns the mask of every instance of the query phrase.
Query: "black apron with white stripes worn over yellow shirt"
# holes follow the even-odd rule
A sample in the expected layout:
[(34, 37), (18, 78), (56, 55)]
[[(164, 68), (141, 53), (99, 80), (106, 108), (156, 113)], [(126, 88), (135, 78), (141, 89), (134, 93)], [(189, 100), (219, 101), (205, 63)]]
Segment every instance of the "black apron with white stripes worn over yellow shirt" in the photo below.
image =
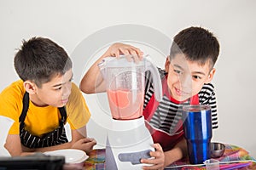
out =
[(25, 129), (26, 112), (29, 106), (29, 94), (26, 92), (23, 97), (23, 109), (19, 118), (20, 121), (20, 142), (28, 148), (43, 148), (57, 144), (67, 143), (67, 136), (64, 128), (64, 124), (67, 120), (67, 112), (65, 106), (58, 108), (61, 113), (61, 120), (59, 127), (54, 131), (45, 133), (41, 138), (32, 135)]

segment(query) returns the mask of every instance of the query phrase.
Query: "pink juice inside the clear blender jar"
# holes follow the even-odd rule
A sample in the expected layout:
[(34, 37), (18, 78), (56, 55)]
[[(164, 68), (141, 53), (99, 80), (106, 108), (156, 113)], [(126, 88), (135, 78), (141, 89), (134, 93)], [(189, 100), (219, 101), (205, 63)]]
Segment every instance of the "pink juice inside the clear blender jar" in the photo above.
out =
[(131, 120), (143, 116), (142, 92), (137, 90), (109, 90), (108, 101), (112, 116), (117, 120)]

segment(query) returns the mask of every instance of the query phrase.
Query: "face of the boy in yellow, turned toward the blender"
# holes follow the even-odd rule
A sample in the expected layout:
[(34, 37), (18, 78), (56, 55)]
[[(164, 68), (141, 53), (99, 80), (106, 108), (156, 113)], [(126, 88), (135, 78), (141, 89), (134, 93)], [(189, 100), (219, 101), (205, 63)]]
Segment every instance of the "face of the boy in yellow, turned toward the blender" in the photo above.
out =
[(33, 82), (26, 81), (24, 85), (34, 105), (62, 107), (67, 104), (71, 94), (72, 79), (73, 72), (70, 69), (64, 75), (57, 75), (51, 81), (43, 83), (41, 88)]

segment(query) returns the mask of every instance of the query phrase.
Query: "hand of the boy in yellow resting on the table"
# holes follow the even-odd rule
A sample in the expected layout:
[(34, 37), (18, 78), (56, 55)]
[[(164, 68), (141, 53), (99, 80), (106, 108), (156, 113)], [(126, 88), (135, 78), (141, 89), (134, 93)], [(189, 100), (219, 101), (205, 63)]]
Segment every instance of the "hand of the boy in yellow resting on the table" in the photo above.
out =
[(91, 150), (93, 150), (93, 146), (95, 144), (96, 144), (95, 139), (84, 138), (84, 139), (79, 139), (77, 142), (75, 142), (72, 145), (72, 148), (84, 150), (86, 153), (89, 153)]

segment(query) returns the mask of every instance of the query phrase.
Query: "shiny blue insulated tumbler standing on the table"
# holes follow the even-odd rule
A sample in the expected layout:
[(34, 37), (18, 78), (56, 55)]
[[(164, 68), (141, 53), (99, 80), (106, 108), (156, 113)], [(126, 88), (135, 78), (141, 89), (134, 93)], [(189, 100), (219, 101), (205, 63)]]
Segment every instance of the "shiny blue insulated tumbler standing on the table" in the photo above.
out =
[(183, 131), (189, 162), (201, 164), (211, 158), (212, 111), (210, 105), (183, 106)]

